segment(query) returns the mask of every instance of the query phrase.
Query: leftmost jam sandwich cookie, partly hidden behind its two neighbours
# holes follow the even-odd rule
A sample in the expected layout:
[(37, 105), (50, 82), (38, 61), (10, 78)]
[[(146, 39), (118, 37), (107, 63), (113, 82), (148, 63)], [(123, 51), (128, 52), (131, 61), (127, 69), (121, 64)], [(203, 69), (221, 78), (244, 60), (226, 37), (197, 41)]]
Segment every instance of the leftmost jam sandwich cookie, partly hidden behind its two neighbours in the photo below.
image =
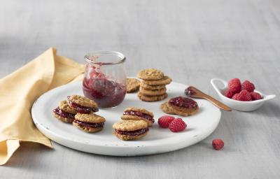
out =
[(66, 100), (60, 101), (59, 106), (52, 110), (52, 115), (54, 115), (58, 120), (66, 123), (73, 122), (73, 120), (75, 120), (76, 113), (76, 110), (68, 106)]

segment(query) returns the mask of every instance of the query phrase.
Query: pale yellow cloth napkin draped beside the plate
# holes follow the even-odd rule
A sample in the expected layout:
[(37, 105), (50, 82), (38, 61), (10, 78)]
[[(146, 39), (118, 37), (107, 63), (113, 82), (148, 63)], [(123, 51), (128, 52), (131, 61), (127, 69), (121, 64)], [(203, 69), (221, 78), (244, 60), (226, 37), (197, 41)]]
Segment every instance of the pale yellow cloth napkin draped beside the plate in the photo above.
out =
[(20, 141), (52, 148), (31, 119), (31, 106), (41, 94), (83, 76), (84, 65), (56, 55), (50, 48), (0, 80), (0, 165), (20, 147)]

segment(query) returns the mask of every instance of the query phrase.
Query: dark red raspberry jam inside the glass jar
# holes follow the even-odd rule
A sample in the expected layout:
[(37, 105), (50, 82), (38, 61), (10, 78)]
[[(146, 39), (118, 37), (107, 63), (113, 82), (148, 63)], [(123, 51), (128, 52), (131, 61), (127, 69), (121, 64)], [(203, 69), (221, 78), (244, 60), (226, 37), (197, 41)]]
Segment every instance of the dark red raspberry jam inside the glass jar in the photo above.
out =
[(101, 108), (115, 107), (123, 102), (126, 85), (109, 80), (103, 73), (97, 72), (96, 67), (92, 70), (90, 78), (83, 79), (83, 94)]

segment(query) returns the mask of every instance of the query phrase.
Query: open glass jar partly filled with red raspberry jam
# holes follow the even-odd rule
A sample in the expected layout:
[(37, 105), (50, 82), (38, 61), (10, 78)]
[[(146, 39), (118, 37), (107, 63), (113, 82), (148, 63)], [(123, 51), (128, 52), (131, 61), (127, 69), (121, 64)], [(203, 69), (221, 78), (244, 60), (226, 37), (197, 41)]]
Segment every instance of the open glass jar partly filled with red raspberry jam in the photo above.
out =
[(120, 52), (97, 51), (85, 55), (83, 94), (99, 108), (118, 106), (126, 94), (125, 56)]

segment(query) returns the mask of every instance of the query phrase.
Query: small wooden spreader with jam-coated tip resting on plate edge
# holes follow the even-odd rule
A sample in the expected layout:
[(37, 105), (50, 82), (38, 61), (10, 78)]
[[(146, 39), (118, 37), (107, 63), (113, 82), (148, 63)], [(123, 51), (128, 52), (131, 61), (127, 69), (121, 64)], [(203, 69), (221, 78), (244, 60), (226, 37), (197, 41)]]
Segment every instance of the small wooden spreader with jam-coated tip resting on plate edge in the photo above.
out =
[(207, 99), (208, 101), (213, 103), (218, 108), (221, 108), (223, 110), (232, 111), (232, 109), (230, 107), (226, 106), (224, 103), (221, 103), (220, 101), (214, 99), (213, 97), (209, 96), (208, 94), (205, 94), (204, 92), (198, 90), (197, 88), (195, 88), (193, 86), (189, 86), (185, 90), (185, 94), (192, 98)]

